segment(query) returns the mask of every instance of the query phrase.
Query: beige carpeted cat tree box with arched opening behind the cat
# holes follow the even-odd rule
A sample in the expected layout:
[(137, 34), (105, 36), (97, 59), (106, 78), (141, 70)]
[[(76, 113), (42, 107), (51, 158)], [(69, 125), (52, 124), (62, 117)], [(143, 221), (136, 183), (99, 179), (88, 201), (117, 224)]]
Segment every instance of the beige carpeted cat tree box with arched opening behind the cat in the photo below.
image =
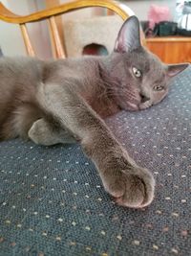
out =
[(93, 44), (111, 53), (123, 20), (116, 15), (70, 20), (65, 23), (68, 57), (80, 57), (84, 48)]

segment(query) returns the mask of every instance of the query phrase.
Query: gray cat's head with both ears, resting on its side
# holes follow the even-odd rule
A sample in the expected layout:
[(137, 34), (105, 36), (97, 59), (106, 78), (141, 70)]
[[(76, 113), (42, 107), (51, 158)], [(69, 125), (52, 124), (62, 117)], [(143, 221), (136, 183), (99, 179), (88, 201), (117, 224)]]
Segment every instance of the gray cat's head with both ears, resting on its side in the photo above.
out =
[(188, 66), (188, 63), (162, 63), (141, 46), (139, 30), (136, 16), (127, 19), (117, 35), (112, 54), (112, 76), (119, 80), (115, 87), (117, 104), (126, 110), (158, 104), (166, 96), (171, 78)]

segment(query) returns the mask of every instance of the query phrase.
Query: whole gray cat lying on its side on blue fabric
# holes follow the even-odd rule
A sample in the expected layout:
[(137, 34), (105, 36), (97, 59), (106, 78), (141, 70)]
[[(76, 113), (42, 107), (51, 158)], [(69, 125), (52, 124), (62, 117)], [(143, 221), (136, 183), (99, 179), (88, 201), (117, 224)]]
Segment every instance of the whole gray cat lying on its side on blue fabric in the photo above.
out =
[(102, 118), (158, 104), (186, 66), (164, 65), (144, 49), (136, 16), (124, 22), (108, 57), (1, 58), (0, 139), (79, 141), (117, 203), (144, 207), (154, 197), (153, 175), (138, 167)]

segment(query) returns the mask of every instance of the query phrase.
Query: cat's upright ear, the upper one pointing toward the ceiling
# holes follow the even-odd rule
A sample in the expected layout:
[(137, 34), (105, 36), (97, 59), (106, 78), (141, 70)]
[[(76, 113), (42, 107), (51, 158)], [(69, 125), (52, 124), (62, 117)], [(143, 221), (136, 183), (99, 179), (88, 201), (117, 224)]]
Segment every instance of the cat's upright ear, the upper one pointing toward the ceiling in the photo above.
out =
[(129, 17), (122, 25), (115, 44), (114, 51), (118, 53), (131, 52), (141, 46), (139, 21), (137, 16)]

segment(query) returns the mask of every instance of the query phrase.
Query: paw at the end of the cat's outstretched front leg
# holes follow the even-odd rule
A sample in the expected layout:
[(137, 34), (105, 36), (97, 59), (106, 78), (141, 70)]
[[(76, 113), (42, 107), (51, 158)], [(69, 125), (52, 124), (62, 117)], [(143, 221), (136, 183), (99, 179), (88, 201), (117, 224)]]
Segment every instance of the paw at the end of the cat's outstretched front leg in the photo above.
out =
[(103, 184), (119, 205), (142, 208), (152, 202), (155, 180), (148, 170), (135, 167), (132, 170), (109, 173)]

